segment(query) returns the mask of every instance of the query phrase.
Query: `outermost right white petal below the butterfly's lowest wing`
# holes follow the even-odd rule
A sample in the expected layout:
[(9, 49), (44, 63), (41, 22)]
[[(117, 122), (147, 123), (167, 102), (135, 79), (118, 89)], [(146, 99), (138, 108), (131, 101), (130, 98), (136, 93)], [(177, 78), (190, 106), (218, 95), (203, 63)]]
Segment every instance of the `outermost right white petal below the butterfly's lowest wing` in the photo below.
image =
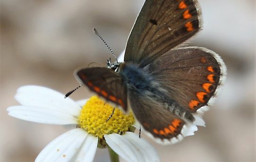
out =
[(144, 157), (144, 162), (160, 162), (159, 156), (155, 148), (150, 145), (145, 139), (132, 132), (126, 132), (122, 135), (135, 148), (135, 150)]

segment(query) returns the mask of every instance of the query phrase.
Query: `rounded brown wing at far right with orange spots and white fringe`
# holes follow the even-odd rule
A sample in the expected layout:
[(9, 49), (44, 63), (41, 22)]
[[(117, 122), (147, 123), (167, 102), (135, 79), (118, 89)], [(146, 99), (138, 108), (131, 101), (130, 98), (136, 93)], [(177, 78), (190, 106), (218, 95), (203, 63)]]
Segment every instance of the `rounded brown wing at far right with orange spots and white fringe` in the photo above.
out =
[(149, 71), (170, 98), (191, 112), (209, 104), (226, 75), (221, 57), (201, 47), (168, 51), (149, 65)]

